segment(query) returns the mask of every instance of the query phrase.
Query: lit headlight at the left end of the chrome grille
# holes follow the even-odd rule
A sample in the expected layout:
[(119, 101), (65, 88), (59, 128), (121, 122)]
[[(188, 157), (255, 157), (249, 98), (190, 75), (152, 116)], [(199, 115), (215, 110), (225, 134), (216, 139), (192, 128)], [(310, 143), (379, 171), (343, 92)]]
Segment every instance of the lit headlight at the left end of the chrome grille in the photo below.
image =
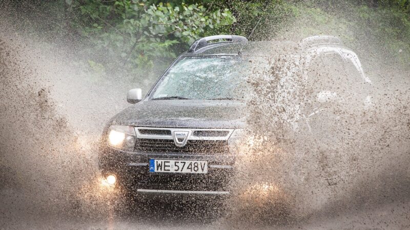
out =
[(133, 126), (111, 125), (108, 131), (108, 143), (118, 149), (134, 150), (136, 138)]

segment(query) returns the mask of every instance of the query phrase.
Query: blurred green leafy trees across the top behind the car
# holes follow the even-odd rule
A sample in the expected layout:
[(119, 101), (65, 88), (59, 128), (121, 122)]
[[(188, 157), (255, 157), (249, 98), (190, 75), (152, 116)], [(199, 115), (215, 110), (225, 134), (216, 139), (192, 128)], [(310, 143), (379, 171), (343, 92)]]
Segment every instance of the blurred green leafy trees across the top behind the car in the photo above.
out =
[(249, 37), (253, 30), (250, 40), (334, 34), (359, 54), (378, 47), (387, 60), (410, 62), (409, 0), (42, 0), (3, 6), (19, 18), (18, 31), (49, 45), (69, 44), (90, 81), (125, 78), (147, 85), (195, 39)]

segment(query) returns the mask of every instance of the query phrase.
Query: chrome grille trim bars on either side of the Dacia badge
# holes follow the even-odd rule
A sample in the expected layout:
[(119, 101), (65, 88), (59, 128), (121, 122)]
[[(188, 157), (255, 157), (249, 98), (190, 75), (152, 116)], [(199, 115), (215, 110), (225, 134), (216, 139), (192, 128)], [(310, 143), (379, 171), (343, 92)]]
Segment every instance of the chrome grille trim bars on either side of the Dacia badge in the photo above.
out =
[[(145, 134), (141, 133), (139, 130), (157, 130), (158, 133), (161, 131), (165, 133), (170, 131), (171, 135), (156, 135), (156, 134)], [(173, 140), (174, 131), (189, 131), (188, 140), (208, 140), (208, 141), (227, 141), (231, 136), (234, 129), (189, 129), (189, 128), (154, 128), (154, 127), (135, 127), (135, 133), (138, 139), (163, 139), (163, 140)], [(154, 132), (152, 132), (154, 133)], [(195, 134), (194, 134), (195, 133)], [(203, 133), (204, 135), (201, 135)], [(209, 133), (220, 133), (221, 136), (210, 136)]]

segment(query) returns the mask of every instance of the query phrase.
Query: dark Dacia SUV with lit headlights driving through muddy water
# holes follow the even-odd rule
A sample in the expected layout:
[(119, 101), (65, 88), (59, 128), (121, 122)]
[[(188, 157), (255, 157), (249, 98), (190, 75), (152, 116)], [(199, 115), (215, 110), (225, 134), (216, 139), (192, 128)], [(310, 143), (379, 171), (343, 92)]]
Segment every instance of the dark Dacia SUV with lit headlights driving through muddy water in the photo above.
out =
[[(358, 84), (370, 83), (357, 56), (346, 55), (339, 41), (316, 36), (287, 46), (305, 51), (305, 66), (315, 53), (336, 54), (354, 63)], [(232, 146), (244, 128), (249, 95), (244, 79), (250, 60), (269, 55), (265, 44), (257, 45), (259, 51), (254, 44), (235, 35), (198, 39), (144, 99), (141, 89), (131, 89), (127, 101), (135, 105), (112, 118), (101, 139), (99, 167), (108, 185), (145, 194), (229, 194), (237, 156)], [(318, 95), (322, 101), (336, 97)]]

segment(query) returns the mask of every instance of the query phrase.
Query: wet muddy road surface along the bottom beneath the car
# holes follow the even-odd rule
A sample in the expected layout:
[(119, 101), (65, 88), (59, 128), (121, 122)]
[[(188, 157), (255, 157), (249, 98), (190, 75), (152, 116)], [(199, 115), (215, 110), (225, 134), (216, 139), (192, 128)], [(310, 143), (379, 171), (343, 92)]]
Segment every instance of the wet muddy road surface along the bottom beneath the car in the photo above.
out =
[[(190, 210), (167, 211), (146, 207), (144, 213), (134, 212), (126, 216), (115, 216), (109, 210), (98, 218), (67, 216), (65, 211), (50, 213), (43, 209), (43, 202), (11, 189), (2, 189), (1, 222), (4, 229), (237, 229), (237, 223), (229, 219), (206, 218), (206, 213), (190, 213)], [(365, 203), (365, 202), (364, 202)], [(410, 226), (407, 201), (364, 204), (347, 210), (324, 210), (303, 220), (274, 225), (256, 225), (255, 229), (407, 229)], [(212, 211), (208, 211), (212, 212)], [(239, 227), (243, 228), (243, 227)]]

